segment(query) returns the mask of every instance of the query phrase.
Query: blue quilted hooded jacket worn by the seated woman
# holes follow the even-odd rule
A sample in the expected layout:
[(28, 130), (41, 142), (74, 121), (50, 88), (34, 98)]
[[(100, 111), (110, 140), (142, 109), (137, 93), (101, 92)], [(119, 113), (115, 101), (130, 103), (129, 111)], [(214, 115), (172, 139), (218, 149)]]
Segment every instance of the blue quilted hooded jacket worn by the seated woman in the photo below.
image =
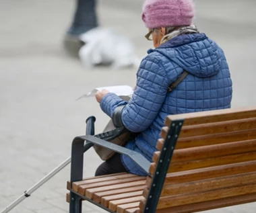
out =
[[(189, 75), (167, 93), (170, 83), (184, 70)], [(148, 50), (137, 71), (137, 85), (129, 103), (108, 93), (100, 106), (112, 117), (117, 106), (126, 105), (123, 124), (131, 132), (141, 132), (126, 147), (152, 161), (167, 115), (230, 108), (231, 99), (232, 81), (224, 52), (205, 34), (188, 34)], [(127, 171), (146, 175), (129, 157), (122, 155), (121, 159)]]

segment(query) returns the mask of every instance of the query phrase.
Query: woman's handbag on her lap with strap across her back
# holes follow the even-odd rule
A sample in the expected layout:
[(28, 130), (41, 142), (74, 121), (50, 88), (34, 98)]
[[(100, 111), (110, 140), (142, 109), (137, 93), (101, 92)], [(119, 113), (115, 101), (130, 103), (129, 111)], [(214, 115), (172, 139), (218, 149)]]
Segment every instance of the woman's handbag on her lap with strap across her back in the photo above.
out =
[[(175, 81), (168, 87), (167, 92), (170, 93), (173, 89), (175, 89), (175, 87), (177, 87), (177, 85), (179, 85), (179, 83), (181, 83), (181, 81), (183, 81), (183, 79), (185, 79), (185, 77), (187, 77), (188, 74), (189, 73), (187, 73), (187, 71), (183, 71), (183, 73), (181, 74), (181, 77), (179, 77), (177, 81)], [(108, 142), (117, 144), (119, 146), (125, 146), (127, 142), (134, 140), (139, 134), (139, 132), (130, 132), (124, 126), (121, 127), (120, 124), (118, 126), (115, 125), (117, 124), (117, 122), (113, 122), (113, 120), (115, 120), (114, 117), (115, 115), (108, 122), (108, 124), (106, 124), (106, 127), (103, 130), (103, 133), (98, 134), (98, 137), (104, 138), (104, 136), (107, 135), (108, 138), (112, 138), (110, 140), (107, 140)], [(115, 131), (117, 128), (119, 128), (119, 131)], [(102, 161), (107, 161), (108, 159), (110, 159), (116, 154), (115, 151), (112, 151), (108, 148), (104, 148), (98, 145), (94, 145), (94, 150), (96, 151), (100, 159), (102, 159)]]

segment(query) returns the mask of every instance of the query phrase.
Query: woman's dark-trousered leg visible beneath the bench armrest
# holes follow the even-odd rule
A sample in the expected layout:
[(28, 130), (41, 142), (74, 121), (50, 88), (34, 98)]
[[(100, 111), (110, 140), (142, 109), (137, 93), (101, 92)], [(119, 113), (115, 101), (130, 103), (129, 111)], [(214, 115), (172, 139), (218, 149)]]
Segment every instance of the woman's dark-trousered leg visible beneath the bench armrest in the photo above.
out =
[(127, 172), (121, 161), (121, 155), (116, 154), (108, 161), (102, 163), (96, 170), (95, 176), (110, 175), (113, 173)]

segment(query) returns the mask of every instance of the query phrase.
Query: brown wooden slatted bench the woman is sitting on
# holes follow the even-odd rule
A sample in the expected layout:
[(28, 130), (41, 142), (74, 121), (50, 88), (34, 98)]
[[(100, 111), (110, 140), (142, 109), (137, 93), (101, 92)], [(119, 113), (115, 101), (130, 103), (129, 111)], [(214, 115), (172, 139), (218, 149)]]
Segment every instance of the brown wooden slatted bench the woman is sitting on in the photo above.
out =
[(69, 212), (80, 212), (82, 200), (118, 213), (199, 212), (256, 201), (256, 108), (168, 116), (165, 124), (152, 163), (140, 162), (148, 177), (80, 175), (67, 184)]

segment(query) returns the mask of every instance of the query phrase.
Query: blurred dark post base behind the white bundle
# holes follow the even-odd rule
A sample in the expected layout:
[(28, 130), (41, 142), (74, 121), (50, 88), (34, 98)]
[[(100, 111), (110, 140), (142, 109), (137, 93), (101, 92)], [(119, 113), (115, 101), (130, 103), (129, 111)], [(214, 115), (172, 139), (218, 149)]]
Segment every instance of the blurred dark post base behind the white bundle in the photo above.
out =
[(79, 49), (84, 45), (79, 36), (98, 27), (96, 0), (76, 0), (73, 22), (64, 38), (64, 48), (72, 56), (78, 57)]

